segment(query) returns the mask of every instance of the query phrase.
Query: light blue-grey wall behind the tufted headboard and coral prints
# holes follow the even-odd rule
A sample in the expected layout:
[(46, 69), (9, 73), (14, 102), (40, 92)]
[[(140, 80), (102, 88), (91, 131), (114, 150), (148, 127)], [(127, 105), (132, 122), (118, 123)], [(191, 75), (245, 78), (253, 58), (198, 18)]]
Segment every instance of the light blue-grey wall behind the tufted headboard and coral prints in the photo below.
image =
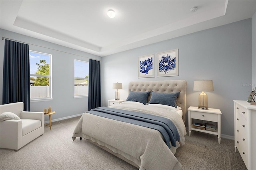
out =
[[(138, 79), (138, 57), (176, 48), (179, 49), (179, 76)], [(102, 104), (106, 106), (108, 99), (114, 99), (114, 82), (122, 83), (120, 98), (126, 99), (130, 81), (177, 79), (187, 81), (186, 109), (198, 106), (200, 92), (193, 91), (194, 80), (213, 80), (214, 91), (206, 92), (208, 107), (222, 111), (221, 133), (234, 136), (233, 100), (246, 100), (252, 88), (252, 20), (102, 57)]]

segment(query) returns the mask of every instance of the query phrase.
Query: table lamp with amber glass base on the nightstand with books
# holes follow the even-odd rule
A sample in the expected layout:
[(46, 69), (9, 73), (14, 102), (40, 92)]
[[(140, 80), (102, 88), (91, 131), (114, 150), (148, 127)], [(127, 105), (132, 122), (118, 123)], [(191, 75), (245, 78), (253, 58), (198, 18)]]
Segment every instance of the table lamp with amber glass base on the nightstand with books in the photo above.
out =
[(212, 80), (194, 81), (194, 91), (202, 91), (198, 97), (198, 109), (208, 109), (208, 97), (204, 91), (213, 91)]

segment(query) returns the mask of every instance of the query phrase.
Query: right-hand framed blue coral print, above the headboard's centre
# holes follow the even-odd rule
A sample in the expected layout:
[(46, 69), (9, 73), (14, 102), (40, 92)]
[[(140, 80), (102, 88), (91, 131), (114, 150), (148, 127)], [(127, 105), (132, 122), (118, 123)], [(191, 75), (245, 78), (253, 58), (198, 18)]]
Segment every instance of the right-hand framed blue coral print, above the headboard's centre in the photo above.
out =
[(158, 53), (157, 77), (179, 75), (179, 49)]

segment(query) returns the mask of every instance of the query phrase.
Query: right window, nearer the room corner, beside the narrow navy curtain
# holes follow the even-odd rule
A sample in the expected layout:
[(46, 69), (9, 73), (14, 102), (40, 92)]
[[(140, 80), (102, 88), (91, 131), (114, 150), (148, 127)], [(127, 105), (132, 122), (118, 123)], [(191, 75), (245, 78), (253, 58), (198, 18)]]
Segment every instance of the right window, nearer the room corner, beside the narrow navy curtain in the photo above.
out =
[(74, 60), (74, 96), (88, 96), (89, 63)]

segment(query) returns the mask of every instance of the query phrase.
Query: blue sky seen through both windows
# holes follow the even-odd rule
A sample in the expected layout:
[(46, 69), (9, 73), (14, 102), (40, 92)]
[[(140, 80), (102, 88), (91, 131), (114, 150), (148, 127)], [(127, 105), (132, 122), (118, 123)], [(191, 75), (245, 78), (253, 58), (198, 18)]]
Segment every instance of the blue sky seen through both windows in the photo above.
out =
[[(46, 60), (46, 63), (50, 63), (50, 54), (38, 53), (34, 51), (29, 52), (30, 57), (30, 74), (34, 74), (37, 71), (38, 66), (36, 63), (40, 63), (40, 60)], [(54, 66), (52, 66), (54, 67)], [(89, 75), (89, 63), (79, 60), (74, 60), (74, 77), (82, 77)]]

